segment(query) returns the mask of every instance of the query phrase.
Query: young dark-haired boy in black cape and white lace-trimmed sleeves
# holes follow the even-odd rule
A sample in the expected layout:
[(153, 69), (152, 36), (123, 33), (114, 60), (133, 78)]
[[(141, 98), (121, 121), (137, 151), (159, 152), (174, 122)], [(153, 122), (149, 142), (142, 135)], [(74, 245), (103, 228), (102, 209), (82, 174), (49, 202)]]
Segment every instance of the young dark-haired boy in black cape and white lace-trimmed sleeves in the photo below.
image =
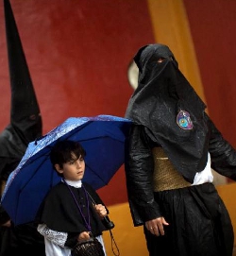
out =
[(70, 256), (71, 249), (91, 235), (105, 252), (102, 231), (107, 229), (102, 219), (108, 210), (93, 188), (81, 181), (85, 155), (84, 148), (74, 141), (59, 141), (51, 150), (50, 160), (61, 181), (45, 196), (37, 216), (46, 256)]

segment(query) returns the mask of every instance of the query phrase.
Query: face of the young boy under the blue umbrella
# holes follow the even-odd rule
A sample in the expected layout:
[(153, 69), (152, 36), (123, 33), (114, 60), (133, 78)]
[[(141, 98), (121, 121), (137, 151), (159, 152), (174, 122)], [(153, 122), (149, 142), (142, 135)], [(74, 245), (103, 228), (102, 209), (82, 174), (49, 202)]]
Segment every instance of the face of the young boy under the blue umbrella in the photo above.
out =
[(59, 167), (59, 164), (55, 164), (55, 168), (60, 174), (63, 174), (64, 179), (80, 180), (84, 177), (85, 162), (81, 156), (77, 158), (72, 153), (71, 161), (63, 163), (62, 168)]

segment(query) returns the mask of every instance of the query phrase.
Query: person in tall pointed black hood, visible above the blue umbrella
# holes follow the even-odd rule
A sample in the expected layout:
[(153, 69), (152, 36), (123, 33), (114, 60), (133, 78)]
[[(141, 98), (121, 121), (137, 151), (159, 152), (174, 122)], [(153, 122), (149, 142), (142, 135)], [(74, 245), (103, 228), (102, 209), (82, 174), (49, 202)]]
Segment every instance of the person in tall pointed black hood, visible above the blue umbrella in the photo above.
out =
[(11, 89), (10, 124), (0, 133), (0, 179), (6, 180), (27, 144), (42, 135), (42, 118), (8, 0), (4, 9)]

